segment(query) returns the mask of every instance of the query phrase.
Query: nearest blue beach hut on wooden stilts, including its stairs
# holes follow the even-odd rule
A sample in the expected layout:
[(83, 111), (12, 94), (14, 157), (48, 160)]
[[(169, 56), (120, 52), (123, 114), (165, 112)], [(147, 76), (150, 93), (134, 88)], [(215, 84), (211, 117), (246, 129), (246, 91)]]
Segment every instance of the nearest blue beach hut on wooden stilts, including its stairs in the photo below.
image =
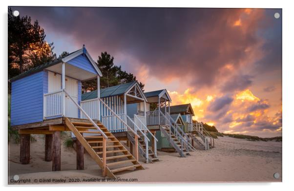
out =
[[(9, 81), (11, 82), (11, 126), (21, 136), (21, 164), (30, 160), (30, 134), (45, 134), (45, 160), (52, 160), (52, 170), (61, 170), (61, 131), (71, 131), (77, 137), (77, 169), (84, 169), (84, 149), (102, 169), (103, 176), (115, 177), (123, 170), (144, 169), (138, 162), (138, 149), (134, 155), (118, 141), (101, 123), (81, 107), (82, 82), (97, 79), (101, 71), (83, 46), (64, 58), (32, 68)], [(98, 95), (100, 88), (98, 88)], [(95, 105), (107, 107), (97, 98)], [(109, 112), (115, 113), (111, 108)], [(97, 116), (101, 116), (97, 109)], [(115, 116), (118, 120), (118, 116)], [(140, 137), (127, 126), (138, 143)], [(83, 133), (95, 136), (84, 137)], [(93, 144), (102, 144), (99, 147)], [(97, 149), (101, 149), (97, 151)], [(113, 153), (120, 153), (115, 157)], [(114, 159), (120, 158), (120, 163)]]

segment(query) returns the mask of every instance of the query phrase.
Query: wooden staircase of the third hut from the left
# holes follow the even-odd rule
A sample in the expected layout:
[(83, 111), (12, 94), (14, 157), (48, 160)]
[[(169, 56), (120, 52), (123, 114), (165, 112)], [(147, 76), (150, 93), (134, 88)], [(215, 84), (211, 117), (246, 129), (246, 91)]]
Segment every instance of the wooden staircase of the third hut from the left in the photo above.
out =
[(170, 145), (180, 154), (181, 157), (186, 157), (187, 155), (190, 155), (187, 149), (184, 147), (184, 144), (182, 146), (181, 142), (170, 130), (170, 127), (168, 125), (161, 125), (160, 131), (164, 134), (165, 137), (168, 138)]

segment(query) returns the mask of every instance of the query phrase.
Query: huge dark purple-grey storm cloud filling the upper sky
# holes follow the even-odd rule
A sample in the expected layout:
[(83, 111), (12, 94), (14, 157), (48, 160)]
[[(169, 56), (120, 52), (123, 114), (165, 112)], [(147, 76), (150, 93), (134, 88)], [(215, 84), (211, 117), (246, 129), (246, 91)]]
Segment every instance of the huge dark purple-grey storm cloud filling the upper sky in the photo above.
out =
[[(101, 51), (146, 64), (150, 75), (186, 77), (190, 85), (213, 85), (228, 63), (237, 68), (255, 46), (262, 10), (233, 26), (242, 9), (16, 7), (46, 31), (73, 37), (97, 58)], [(260, 12), (260, 13), (259, 13)], [(246, 17), (245, 17), (246, 18)], [(244, 27), (243, 27), (244, 26)], [(268, 46), (270, 48), (270, 46)], [(96, 60), (94, 58), (94, 60)], [(120, 64), (120, 63), (117, 63)], [(240, 87), (251, 82), (240, 81)], [(230, 89), (230, 85), (224, 86)]]

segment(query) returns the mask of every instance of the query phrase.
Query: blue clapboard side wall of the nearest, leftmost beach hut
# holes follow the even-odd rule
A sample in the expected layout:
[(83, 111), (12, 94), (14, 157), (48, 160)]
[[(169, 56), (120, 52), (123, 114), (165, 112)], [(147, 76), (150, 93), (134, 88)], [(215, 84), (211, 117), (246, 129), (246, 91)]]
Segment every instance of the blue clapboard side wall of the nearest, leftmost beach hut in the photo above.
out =
[(48, 73), (44, 71), (12, 82), (11, 126), (41, 122), (43, 93), (47, 91)]

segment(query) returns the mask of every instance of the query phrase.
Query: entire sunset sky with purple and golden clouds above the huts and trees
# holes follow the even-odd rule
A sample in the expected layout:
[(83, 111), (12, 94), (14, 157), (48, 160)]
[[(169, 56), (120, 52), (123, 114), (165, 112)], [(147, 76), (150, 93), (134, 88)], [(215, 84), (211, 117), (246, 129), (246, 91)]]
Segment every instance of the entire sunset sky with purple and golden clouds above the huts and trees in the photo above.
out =
[(107, 51), (146, 92), (166, 88), (171, 105), (190, 103), (220, 132), (282, 134), (281, 9), (12, 9), (39, 21), (57, 55)]

